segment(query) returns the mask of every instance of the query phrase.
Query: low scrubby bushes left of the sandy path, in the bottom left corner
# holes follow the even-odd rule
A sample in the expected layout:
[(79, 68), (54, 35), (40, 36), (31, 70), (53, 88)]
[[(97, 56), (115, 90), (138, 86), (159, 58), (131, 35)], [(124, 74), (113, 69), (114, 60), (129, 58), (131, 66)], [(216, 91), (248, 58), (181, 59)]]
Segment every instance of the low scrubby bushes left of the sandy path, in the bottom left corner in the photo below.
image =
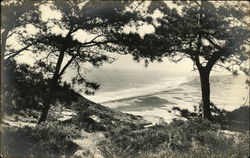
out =
[(70, 156), (78, 148), (72, 142), (79, 136), (76, 127), (60, 123), (37, 127), (6, 127), (1, 131), (1, 151), (5, 157), (59, 157)]

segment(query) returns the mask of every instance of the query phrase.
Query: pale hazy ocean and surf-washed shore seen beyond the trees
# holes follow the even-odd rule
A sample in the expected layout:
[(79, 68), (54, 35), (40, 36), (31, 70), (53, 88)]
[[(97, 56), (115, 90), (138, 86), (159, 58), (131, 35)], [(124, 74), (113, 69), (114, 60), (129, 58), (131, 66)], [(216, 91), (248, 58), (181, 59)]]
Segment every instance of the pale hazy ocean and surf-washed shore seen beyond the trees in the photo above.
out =
[[(198, 72), (197, 72), (198, 73)], [(106, 69), (93, 71), (87, 78), (101, 86), (86, 98), (117, 111), (141, 115), (152, 123), (178, 118), (171, 111), (178, 106), (190, 111), (201, 102), (199, 76), (161, 71)], [(232, 111), (249, 103), (246, 76), (210, 77), (211, 102)]]

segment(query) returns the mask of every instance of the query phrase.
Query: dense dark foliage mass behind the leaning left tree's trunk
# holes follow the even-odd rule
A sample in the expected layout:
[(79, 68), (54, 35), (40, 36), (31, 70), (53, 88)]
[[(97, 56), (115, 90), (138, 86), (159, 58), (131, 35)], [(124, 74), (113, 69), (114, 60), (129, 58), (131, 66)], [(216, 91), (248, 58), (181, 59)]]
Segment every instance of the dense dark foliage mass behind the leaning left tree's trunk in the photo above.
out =
[[(17, 64), (15, 61), (4, 63), (5, 84), (1, 87), (1, 110), (4, 113), (18, 113), (21, 110), (41, 110), (50, 91), (49, 79), (42, 72), (37, 71), (37, 66)], [(58, 85), (60, 93), (51, 96), (53, 102), (67, 106), (76, 101), (79, 94), (75, 93), (70, 85)]]

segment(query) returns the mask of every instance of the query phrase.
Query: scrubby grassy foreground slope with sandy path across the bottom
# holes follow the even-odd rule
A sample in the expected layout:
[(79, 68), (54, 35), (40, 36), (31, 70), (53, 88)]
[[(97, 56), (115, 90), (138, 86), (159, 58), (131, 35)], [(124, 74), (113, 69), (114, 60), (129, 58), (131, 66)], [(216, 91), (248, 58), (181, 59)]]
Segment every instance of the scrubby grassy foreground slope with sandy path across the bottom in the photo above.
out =
[[(114, 111), (110, 116), (105, 114), (107, 108), (90, 105), (67, 121), (1, 128), (1, 154), (39, 158), (244, 158), (250, 154), (250, 133), (249, 119), (248, 128), (242, 126), (246, 125), (245, 117), (249, 118), (249, 107), (243, 108), (224, 116), (227, 121), (173, 120), (145, 128), (138, 124), (138, 117), (116, 115)], [(242, 119), (236, 117), (238, 114)], [(233, 117), (235, 120), (230, 121)]]

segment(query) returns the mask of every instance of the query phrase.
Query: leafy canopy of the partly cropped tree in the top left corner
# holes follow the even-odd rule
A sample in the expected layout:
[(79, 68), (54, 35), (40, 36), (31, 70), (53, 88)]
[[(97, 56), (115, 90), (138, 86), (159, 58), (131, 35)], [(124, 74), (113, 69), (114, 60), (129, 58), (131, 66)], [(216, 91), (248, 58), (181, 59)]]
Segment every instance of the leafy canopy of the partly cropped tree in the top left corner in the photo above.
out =
[(31, 0), (1, 1), (1, 61), (5, 56), (14, 54), (5, 54), (6, 41), (17, 33), (17, 28), (39, 21), (38, 7), (42, 3)]

